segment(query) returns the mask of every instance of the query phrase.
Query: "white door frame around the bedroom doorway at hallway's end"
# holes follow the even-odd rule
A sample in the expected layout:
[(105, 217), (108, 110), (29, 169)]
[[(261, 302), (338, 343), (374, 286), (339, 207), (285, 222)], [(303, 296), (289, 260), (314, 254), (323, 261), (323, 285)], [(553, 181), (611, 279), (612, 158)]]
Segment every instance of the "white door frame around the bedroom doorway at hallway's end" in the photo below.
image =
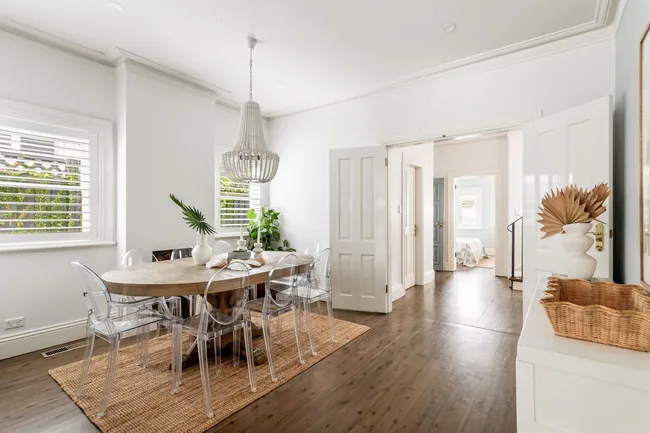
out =
[(508, 216), (508, 201), (504, 200), (503, 197), (504, 179), (500, 169), (459, 171), (450, 173), (445, 177), (445, 218), (447, 219), (447, 229), (444, 231), (443, 239), (446, 248), (446, 254), (443, 256), (443, 269), (445, 271), (456, 271), (456, 191), (454, 190), (454, 179), (468, 176), (494, 176), (494, 275), (507, 277), (507, 245), (501, 242), (499, 227), (503, 226), (503, 230), (505, 231), (508, 225), (505, 222)]

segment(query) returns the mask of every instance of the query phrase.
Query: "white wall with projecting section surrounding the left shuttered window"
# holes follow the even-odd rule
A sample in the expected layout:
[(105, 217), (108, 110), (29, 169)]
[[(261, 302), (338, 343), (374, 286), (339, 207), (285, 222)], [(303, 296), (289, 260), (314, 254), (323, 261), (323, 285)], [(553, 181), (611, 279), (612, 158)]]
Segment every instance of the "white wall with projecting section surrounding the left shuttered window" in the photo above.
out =
[(239, 114), (154, 71), (108, 68), (4, 32), (0, 97), (114, 122), (118, 201), (117, 247), (0, 253), (0, 323), (25, 317), (25, 327), (0, 326), (1, 359), (84, 335), (86, 307), (71, 261), (101, 274), (134, 247), (195, 244), (168, 194), (214, 222), (215, 147), (234, 145)]

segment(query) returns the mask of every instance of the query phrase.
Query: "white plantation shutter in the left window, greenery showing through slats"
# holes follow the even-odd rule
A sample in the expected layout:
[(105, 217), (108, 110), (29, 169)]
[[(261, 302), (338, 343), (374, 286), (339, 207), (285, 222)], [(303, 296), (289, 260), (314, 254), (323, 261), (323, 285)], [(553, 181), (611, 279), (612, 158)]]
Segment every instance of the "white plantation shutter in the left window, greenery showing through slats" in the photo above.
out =
[(0, 241), (90, 230), (90, 140), (0, 123)]

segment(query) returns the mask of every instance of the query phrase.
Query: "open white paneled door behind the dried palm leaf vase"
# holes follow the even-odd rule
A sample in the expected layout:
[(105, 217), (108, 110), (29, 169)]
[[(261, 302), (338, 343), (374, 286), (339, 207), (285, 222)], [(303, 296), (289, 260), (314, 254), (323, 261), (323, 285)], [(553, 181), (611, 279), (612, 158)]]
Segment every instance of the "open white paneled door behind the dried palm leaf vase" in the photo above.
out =
[[(524, 314), (537, 280), (552, 272), (566, 273), (561, 236), (541, 239), (538, 207), (548, 191), (570, 184), (592, 187), (611, 183), (612, 102), (605, 97), (553, 114), (524, 128)], [(611, 228), (612, 198), (598, 219)], [(596, 260), (595, 277), (611, 278), (611, 242), (589, 251)]]

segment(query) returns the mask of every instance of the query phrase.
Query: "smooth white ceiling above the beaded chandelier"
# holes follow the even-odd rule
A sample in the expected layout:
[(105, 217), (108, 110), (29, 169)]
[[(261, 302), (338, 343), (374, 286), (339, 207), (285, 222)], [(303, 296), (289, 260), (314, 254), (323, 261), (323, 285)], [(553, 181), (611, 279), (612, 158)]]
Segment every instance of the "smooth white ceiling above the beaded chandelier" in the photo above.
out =
[[(593, 29), (613, 0), (115, 2), (122, 12), (105, 0), (2, 0), (0, 17), (109, 61), (119, 47), (223, 88), (236, 102), (247, 98), (246, 36), (255, 35), (255, 100), (273, 116), (525, 41)], [(450, 22), (456, 30), (443, 32)]]

